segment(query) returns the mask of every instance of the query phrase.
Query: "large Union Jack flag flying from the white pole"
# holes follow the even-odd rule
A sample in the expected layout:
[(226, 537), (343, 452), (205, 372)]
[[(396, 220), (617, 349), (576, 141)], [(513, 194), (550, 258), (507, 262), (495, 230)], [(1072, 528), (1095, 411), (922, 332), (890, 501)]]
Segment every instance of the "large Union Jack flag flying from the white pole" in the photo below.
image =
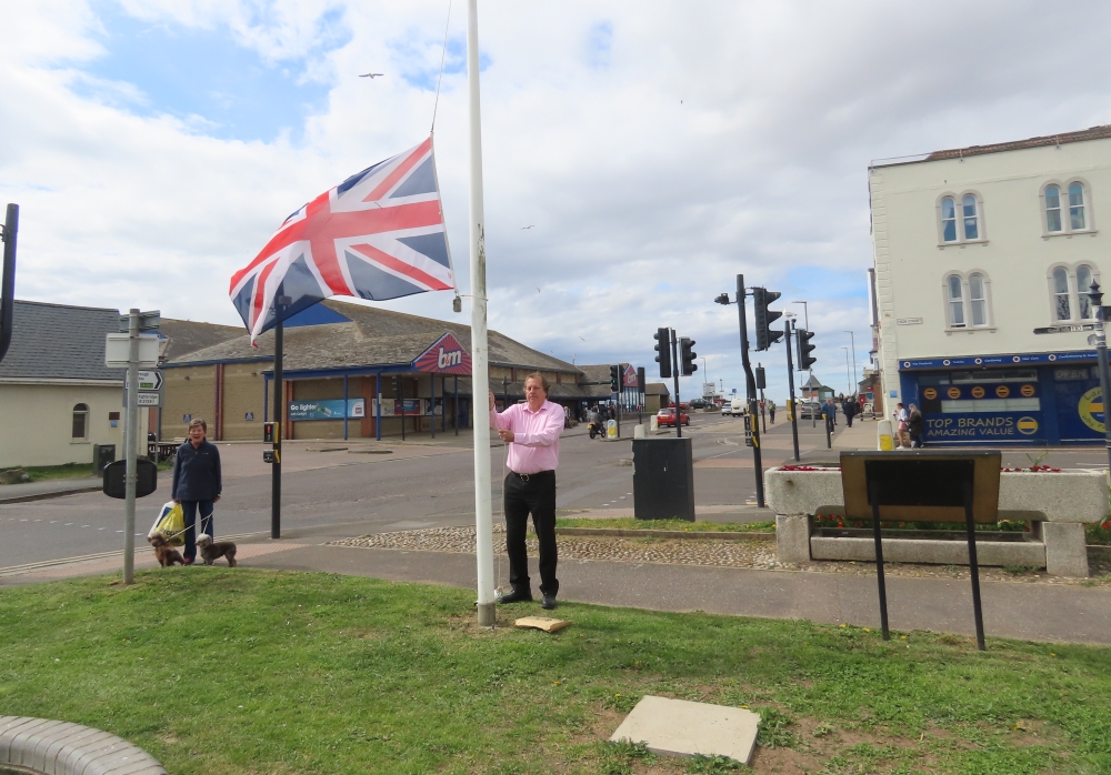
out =
[(286, 219), (231, 278), (251, 341), (329, 296), (382, 301), (448, 291), (456, 281), (436, 179), (432, 138), (369, 167)]

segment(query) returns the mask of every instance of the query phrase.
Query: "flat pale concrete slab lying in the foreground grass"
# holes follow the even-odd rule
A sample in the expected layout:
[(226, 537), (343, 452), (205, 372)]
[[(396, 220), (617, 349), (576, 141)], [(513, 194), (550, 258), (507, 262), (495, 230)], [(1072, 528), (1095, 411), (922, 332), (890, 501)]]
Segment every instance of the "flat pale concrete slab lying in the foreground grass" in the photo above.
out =
[(653, 754), (728, 756), (748, 764), (759, 726), (752, 711), (647, 694), (610, 741), (643, 743)]

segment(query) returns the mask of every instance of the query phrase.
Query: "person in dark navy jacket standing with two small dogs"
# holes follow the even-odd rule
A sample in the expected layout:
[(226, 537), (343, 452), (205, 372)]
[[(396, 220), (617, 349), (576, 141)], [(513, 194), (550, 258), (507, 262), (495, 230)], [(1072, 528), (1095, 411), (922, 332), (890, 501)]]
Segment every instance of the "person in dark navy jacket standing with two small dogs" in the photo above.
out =
[(186, 520), (186, 565), (197, 557), (197, 512), (200, 510), (202, 533), (216, 537), (213, 510), (220, 500), (223, 482), (220, 472), (220, 450), (206, 439), (208, 425), (200, 417), (189, 423), (189, 437), (173, 457), (173, 480), (170, 499), (181, 504)]

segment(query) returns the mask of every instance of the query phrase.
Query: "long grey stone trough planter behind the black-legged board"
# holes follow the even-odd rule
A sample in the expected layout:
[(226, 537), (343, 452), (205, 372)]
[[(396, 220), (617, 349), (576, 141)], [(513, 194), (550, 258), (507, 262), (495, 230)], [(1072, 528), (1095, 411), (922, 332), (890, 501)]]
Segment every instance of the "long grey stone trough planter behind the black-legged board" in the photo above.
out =
[[(764, 486), (768, 505), (777, 514), (780, 562), (875, 558), (869, 539), (811, 535), (814, 514), (844, 513), (840, 471), (772, 469), (764, 475)], [(1101, 472), (1004, 471), (999, 480), (999, 511), (1001, 519), (1025, 520), (1032, 530), (1022, 542), (977, 541), (981, 564), (1044, 567), (1051, 575), (1084, 577), (1084, 524), (1107, 517), (1107, 479)], [(883, 557), (967, 565), (968, 546), (953, 541), (884, 537)]]

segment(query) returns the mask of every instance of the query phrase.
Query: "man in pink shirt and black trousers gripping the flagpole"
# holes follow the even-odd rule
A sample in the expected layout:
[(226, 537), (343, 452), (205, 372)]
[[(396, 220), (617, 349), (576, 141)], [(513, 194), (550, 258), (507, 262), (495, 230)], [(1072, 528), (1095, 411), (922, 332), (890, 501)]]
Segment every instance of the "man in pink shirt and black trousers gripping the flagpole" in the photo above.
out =
[(506, 550), (509, 553), (509, 583), (513, 591), (502, 595), (502, 603), (532, 600), (529, 582), (529, 555), (524, 533), (532, 514), (532, 526), (540, 542), (541, 606), (556, 607), (559, 580), (556, 578), (556, 466), (559, 465), (559, 436), (563, 432), (563, 409), (548, 400), (548, 380), (540, 373), (524, 380), (526, 403), (509, 406), (498, 414), (490, 391), (490, 427), (509, 447), (506, 475)]

